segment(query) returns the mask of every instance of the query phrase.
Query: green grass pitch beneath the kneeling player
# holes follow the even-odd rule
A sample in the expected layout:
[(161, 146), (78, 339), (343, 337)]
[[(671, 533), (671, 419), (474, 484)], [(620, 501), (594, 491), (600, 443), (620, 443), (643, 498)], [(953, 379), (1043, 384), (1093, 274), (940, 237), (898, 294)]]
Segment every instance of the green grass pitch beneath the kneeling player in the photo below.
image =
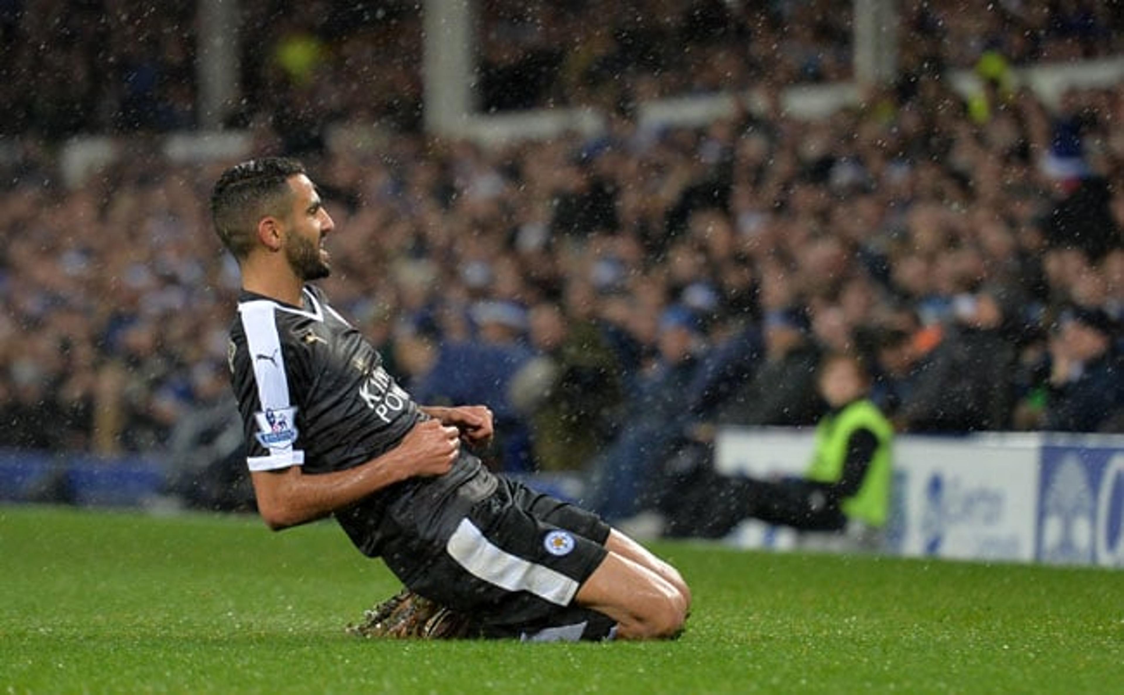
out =
[(659, 543), (673, 642), (363, 641), (343, 532), (0, 506), (0, 693), (1124, 692), (1124, 572)]

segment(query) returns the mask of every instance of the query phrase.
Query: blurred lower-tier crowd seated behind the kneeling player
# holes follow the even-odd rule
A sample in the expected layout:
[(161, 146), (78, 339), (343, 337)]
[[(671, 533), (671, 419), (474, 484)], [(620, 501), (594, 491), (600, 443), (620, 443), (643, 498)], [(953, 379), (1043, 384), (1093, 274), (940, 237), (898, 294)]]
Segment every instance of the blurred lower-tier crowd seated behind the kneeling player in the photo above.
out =
[[(1090, 17), (1080, 45), (1111, 47)], [(1124, 432), (1124, 88), (1048, 109), (984, 64), (968, 99), (930, 66), (823, 121), (783, 112), (774, 81), (701, 128), (642, 128), (617, 94), (599, 135), (497, 148), (248, 123), (255, 154), (300, 154), (323, 189), (329, 297), (419, 401), (492, 407), (496, 468), (812, 424), (815, 365), (841, 350), (903, 432)], [(206, 209), (232, 162), (149, 145), (73, 189), (31, 144), (0, 172), (0, 445), (145, 452), (238, 428), (238, 276)]]

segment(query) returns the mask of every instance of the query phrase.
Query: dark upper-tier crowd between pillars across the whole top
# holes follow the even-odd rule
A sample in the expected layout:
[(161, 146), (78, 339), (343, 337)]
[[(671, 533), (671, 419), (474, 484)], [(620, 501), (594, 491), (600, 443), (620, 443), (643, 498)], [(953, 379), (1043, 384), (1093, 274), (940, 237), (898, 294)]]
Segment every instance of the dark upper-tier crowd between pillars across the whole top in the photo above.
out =
[[(0, 2), (0, 135), (166, 133), (200, 125), (198, 1)], [(898, 6), (905, 75), (1117, 55), (1111, 0)], [(239, 0), (242, 98), (217, 117), (266, 121), (293, 150), (324, 124), (362, 117), (416, 130), (422, 112), (418, 0)], [(478, 107), (611, 107), (692, 93), (852, 78), (852, 8), (830, 0), (478, 0)], [(593, 21), (590, 21), (595, 18)]]

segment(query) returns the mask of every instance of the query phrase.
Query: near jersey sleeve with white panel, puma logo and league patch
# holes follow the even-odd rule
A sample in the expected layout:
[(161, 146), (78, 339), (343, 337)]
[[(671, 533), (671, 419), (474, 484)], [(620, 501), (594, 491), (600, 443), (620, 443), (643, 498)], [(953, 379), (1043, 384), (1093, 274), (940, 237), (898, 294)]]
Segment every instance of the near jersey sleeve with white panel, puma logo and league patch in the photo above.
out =
[(248, 301), (239, 306), (239, 317), (244, 350), (236, 345), (232, 362), (246, 433), (246, 463), (252, 471), (302, 466), (305, 452), (297, 427), (299, 398), (292, 389), (296, 365), (285, 363), (275, 306)]

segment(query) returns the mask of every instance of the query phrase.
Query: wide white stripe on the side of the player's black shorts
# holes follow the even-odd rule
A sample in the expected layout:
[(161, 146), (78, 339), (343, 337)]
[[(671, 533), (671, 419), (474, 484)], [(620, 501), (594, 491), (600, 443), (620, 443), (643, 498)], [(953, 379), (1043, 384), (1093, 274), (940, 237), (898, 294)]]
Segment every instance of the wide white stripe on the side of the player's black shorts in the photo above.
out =
[(529, 592), (560, 606), (570, 605), (578, 593), (577, 581), (493, 545), (468, 518), (461, 520), (445, 550), (472, 575), (509, 592)]

